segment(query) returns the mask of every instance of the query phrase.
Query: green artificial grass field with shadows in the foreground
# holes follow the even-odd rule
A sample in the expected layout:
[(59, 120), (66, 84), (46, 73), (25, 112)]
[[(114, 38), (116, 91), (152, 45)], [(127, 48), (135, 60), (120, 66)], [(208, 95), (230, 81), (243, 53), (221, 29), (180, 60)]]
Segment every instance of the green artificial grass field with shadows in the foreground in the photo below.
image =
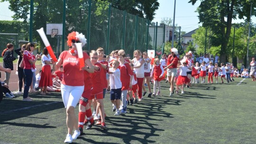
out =
[[(242, 78), (229, 84), (193, 84), (185, 94), (145, 98), (128, 106), (126, 115), (114, 116), (104, 99), (108, 129), (93, 126), (74, 144), (255, 144), (255, 82)], [(153, 87), (153, 86), (152, 86)], [(3, 99), (0, 103), (0, 144), (61, 144), (67, 128), (60, 93)], [(50, 104), (48, 104), (50, 103)], [(46, 105), (48, 104), (48, 105)], [(20, 109), (32, 107), (27, 109)], [(16, 110), (19, 109), (19, 110)], [(12, 111), (16, 110), (16, 111)], [(78, 113), (78, 107), (75, 109)]]

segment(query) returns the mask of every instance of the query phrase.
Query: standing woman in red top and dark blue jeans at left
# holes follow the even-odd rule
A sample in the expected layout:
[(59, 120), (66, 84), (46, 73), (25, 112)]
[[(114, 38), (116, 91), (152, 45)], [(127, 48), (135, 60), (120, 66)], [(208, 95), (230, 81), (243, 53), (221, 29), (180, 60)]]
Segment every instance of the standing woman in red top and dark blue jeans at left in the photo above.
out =
[(26, 45), (26, 49), (23, 54), (24, 60), (24, 73), (25, 73), (25, 86), (23, 91), (23, 100), (24, 101), (32, 101), (31, 98), (28, 97), (28, 90), (32, 83), (33, 79), (33, 72), (36, 72), (36, 65), (37, 59), (40, 58), (40, 55), (37, 54), (36, 56), (33, 55), (33, 50), (35, 45), (32, 43), (28, 43)]

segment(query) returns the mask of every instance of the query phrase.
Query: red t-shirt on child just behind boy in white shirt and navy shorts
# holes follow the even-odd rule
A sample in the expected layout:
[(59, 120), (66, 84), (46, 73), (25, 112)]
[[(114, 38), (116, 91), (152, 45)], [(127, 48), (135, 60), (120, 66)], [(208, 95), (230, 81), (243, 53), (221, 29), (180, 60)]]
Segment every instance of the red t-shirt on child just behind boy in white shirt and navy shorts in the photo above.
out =
[(120, 64), (118, 68), (121, 72), (120, 80), (122, 82), (122, 90), (128, 90), (130, 84), (130, 76), (133, 75), (131, 66), (129, 63), (124, 63)]

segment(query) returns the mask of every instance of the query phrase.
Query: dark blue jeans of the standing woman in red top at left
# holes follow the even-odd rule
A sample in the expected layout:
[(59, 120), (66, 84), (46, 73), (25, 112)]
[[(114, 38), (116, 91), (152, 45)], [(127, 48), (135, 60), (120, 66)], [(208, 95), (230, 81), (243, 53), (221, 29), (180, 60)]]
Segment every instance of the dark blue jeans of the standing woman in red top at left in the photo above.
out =
[(27, 98), (28, 90), (33, 79), (33, 72), (31, 71), (31, 69), (24, 69), (24, 73), (25, 73), (25, 85), (24, 85), (24, 91), (23, 91), (23, 99)]

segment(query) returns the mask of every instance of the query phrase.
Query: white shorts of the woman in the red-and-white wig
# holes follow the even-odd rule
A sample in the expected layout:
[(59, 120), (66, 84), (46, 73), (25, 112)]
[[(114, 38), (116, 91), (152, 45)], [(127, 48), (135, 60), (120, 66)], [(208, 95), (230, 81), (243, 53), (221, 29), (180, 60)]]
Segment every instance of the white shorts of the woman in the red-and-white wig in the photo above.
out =
[(68, 106), (76, 107), (79, 102), (84, 86), (68, 86), (61, 84), (61, 95), (65, 108)]

